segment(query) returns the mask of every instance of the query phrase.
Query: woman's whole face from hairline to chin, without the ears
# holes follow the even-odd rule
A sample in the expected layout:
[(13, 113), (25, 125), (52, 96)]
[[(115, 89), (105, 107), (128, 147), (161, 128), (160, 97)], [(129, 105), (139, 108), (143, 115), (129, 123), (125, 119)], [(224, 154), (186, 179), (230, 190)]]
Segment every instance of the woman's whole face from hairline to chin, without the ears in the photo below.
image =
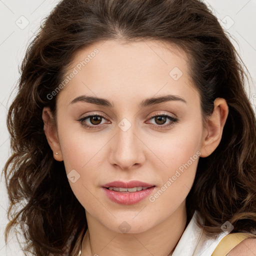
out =
[[(130, 232), (147, 230), (184, 206), (207, 135), (187, 56), (168, 47), (90, 45), (76, 54), (57, 94), (56, 157), (86, 214), (117, 232), (126, 222)], [(103, 187), (134, 180), (153, 187)]]

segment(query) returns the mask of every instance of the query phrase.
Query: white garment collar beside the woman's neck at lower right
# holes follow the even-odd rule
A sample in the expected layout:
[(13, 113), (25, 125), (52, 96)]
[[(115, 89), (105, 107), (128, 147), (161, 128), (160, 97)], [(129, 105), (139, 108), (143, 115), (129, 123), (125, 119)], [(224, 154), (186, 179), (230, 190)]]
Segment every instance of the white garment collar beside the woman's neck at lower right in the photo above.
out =
[(203, 228), (199, 228), (195, 223), (196, 214), (197, 211), (194, 212), (170, 256), (210, 256), (220, 240), (227, 235), (221, 232), (215, 238), (206, 236)]

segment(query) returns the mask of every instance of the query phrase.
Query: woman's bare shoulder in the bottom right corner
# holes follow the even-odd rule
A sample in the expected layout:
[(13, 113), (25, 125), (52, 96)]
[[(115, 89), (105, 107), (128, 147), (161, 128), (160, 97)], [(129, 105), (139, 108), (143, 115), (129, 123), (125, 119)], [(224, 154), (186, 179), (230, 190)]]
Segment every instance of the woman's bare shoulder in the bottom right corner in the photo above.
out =
[(256, 238), (246, 238), (230, 250), (227, 256), (255, 256)]

